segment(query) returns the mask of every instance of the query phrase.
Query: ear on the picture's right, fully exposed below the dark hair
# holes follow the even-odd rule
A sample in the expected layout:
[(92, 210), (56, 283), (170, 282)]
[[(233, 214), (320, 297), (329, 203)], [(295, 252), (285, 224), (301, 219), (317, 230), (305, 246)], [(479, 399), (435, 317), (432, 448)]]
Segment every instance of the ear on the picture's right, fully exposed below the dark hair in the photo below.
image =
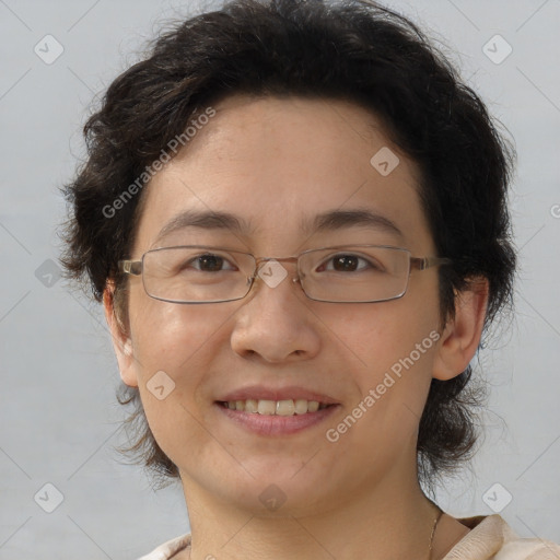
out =
[(485, 326), (489, 282), (477, 277), (455, 294), (455, 317), (445, 325), (433, 365), (433, 377), (448, 381), (464, 372), (472, 360)]

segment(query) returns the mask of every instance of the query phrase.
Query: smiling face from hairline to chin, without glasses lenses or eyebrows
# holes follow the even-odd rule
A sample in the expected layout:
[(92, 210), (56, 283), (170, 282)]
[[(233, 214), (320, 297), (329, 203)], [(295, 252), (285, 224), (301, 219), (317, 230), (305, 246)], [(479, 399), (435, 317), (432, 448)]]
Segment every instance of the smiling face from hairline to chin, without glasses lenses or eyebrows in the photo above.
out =
[[(132, 258), (175, 245), (277, 258), (350, 244), (434, 255), (418, 170), (369, 112), (342, 101), (246, 96), (214, 108), (188, 149), (147, 187)], [(388, 175), (371, 163), (387, 148), (399, 158)], [(317, 214), (357, 209), (389, 220), (400, 233), (380, 223), (302, 228)], [(161, 235), (178, 214), (208, 210), (250, 228), (183, 224)], [(271, 495), (285, 499), (281, 512), (301, 515), (416, 472), (418, 424), (438, 351), (436, 269), (412, 271), (397, 300), (327, 303), (307, 299), (292, 281), (295, 265), (284, 268), (288, 277), (273, 288), (257, 278), (243, 300), (195, 305), (154, 300), (140, 277), (130, 277), (133, 359), (121, 366), (122, 377), (138, 385), (187, 500), (189, 492), (206, 492), (262, 512)], [(164, 385), (175, 384), (161, 399), (149, 390), (156, 372), (165, 372)], [(166, 394), (172, 384), (165, 386)], [(221, 405), (275, 396), (331, 406), (284, 418)]]

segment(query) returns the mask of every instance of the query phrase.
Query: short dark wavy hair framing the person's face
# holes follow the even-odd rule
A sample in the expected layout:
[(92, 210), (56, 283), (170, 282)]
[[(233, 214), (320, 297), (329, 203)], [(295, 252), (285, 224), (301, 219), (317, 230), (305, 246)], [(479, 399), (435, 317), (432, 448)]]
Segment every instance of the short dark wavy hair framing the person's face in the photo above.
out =
[[(455, 293), (489, 280), (485, 334), (511, 308), (515, 253), (508, 185), (514, 149), (498, 132), (480, 97), (406, 18), (369, 0), (234, 0), (182, 21), (119, 75), (84, 126), (88, 159), (63, 189), (71, 207), (60, 258), (68, 278), (101, 301), (115, 282), (115, 310), (126, 331), (126, 282), (117, 261), (129, 256), (142, 192), (107, 219), (108, 208), (184, 132), (192, 116), (224, 97), (305, 96), (346, 100), (381, 118), (390, 140), (421, 170), (420, 197), (440, 269), (442, 324)], [(185, 149), (188, 149), (186, 147)], [(433, 488), (468, 460), (486, 396), (469, 366), (432, 380), (418, 434), (419, 480)], [(137, 388), (126, 450), (164, 483), (178, 477), (147, 423)]]

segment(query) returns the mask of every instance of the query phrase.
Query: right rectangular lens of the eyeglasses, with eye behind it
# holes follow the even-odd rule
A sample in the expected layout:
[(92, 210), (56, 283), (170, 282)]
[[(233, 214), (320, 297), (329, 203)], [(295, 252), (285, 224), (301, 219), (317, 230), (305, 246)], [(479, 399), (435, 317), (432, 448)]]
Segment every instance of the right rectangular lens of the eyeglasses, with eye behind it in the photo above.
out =
[(407, 290), (407, 249), (357, 245), (311, 250), (301, 258), (303, 288), (312, 300), (377, 302)]

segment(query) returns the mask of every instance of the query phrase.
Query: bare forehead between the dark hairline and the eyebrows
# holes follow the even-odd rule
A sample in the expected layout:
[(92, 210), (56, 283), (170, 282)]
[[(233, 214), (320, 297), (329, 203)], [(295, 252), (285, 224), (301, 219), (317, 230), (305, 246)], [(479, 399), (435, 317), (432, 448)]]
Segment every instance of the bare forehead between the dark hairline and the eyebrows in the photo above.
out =
[(186, 225), (212, 212), (232, 215), (225, 229), (244, 242), (258, 237), (280, 253), (329, 218), (339, 231), (351, 226), (352, 212), (373, 214), (370, 225), (387, 235), (394, 225), (411, 249), (430, 244), (418, 170), (370, 112), (337, 100), (244, 95), (213, 109), (145, 187), (137, 249), (153, 247), (183, 214)]

